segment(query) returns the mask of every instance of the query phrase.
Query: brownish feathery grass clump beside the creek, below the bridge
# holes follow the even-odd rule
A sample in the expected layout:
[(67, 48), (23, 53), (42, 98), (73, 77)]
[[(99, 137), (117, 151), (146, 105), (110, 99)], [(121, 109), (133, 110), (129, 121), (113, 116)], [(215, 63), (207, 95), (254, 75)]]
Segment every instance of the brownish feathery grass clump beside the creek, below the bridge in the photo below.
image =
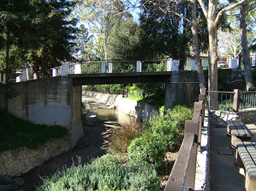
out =
[(147, 129), (146, 124), (140, 121), (112, 126), (103, 133), (105, 141), (102, 148), (111, 154), (125, 154), (131, 141), (141, 137), (145, 129)]

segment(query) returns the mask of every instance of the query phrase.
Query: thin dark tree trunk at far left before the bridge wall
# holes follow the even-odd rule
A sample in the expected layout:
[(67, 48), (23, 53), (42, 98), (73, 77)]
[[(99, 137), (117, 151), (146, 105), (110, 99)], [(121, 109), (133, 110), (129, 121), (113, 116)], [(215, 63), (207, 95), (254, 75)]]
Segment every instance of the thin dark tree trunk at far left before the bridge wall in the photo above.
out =
[(6, 40), (6, 83), (5, 83), (5, 109), (9, 108), (9, 46), (10, 46), (10, 26), (7, 24), (7, 40)]

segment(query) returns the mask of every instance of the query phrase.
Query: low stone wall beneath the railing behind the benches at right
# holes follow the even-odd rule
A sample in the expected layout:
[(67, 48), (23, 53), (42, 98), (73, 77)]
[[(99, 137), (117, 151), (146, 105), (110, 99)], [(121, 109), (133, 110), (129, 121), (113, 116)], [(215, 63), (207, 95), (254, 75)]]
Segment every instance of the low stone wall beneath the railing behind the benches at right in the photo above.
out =
[(214, 127), (226, 126), (228, 120), (242, 120), (243, 122), (256, 121), (256, 108), (242, 109), (239, 112), (209, 111), (210, 125)]

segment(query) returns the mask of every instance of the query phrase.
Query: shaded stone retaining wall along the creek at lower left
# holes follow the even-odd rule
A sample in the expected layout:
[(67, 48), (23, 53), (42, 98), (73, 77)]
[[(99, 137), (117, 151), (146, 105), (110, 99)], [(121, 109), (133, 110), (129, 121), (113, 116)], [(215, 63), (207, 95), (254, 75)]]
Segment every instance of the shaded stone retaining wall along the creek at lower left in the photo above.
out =
[(69, 151), (68, 137), (55, 139), (37, 150), (26, 147), (5, 151), (0, 154), (0, 175), (19, 176), (46, 160)]

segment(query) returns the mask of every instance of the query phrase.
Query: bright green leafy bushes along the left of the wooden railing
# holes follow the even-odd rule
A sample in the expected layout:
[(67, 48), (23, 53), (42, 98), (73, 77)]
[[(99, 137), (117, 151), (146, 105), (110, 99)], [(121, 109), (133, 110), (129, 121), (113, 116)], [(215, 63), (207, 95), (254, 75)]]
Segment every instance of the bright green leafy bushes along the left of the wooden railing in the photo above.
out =
[(185, 120), (192, 116), (193, 111), (184, 105), (176, 105), (164, 116), (159, 116), (152, 124), (150, 132), (131, 142), (128, 148), (131, 163), (161, 167), (164, 154), (172, 150), (179, 133), (184, 130)]

